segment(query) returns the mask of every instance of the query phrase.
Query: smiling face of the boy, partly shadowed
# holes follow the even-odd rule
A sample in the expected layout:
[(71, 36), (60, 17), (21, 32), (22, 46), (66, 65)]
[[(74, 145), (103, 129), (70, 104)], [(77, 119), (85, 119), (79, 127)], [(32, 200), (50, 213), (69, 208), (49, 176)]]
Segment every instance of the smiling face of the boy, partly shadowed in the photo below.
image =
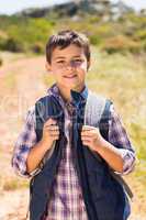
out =
[(66, 48), (56, 47), (52, 54), (50, 64), (47, 69), (53, 74), (59, 89), (74, 89), (81, 91), (89, 63), (83, 48), (70, 44)]

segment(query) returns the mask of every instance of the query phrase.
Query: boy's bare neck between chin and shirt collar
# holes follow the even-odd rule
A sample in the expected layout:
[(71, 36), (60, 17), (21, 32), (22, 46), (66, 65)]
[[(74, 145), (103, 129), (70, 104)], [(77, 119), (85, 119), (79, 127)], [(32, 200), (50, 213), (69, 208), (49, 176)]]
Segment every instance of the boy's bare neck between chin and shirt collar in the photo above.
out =
[(59, 87), (58, 85), (57, 85), (57, 87), (58, 87), (58, 89), (59, 89), (59, 92), (60, 92), (63, 99), (64, 99), (65, 101), (67, 101), (67, 102), (70, 102), (70, 101), (71, 101), (71, 92), (70, 92), (71, 90), (81, 92), (81, 91), (83, 90), (83, 88), (85, 88), (85, 86), (83, 86), (83, 87), (80, 87), (80, 88), (74, 88), (74, 89), (69, 89), (69, 88), (68, 88), (68, 89), (67, 89), (67, 88)]

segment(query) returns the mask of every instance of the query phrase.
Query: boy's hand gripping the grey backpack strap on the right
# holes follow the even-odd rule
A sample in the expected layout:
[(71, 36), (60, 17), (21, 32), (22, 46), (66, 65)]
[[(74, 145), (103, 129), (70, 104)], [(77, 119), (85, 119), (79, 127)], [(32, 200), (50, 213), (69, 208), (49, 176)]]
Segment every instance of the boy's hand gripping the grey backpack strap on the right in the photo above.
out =
[(83, 145), (89, 146), (92, 151), (97, 151), (102, 145), (103, 138), (99, 129), (94, 127), (83, 125), (81, 131), (81, 141)]

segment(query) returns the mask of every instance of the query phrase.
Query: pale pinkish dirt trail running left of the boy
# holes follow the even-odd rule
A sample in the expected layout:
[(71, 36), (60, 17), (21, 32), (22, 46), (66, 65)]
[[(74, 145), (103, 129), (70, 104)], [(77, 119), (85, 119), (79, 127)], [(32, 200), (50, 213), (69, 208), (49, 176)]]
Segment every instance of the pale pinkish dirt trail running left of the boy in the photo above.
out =
[(2, 189), (11, 182), (13, 184), (15, 179), (15, 174), (11, 168), (11, 155), (24, 114), (46, 91), (42, 80), (45, 74), (45, 57), (5, 63), (0, 68), (0, 73), (2, 73), (0, 76), (0, 133), (2, 136), (0, 139), (0, 170), (2, 170), (0, 175), (0, 220), (24, 220), (29, 205), (29, 190)]

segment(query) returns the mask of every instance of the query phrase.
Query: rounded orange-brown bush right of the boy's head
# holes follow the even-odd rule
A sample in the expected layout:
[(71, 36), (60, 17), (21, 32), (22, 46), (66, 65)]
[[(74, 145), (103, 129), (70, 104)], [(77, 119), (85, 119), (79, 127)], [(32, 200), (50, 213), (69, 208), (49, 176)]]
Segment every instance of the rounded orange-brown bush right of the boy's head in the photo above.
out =
[(108, 38), (104, 44), (102, 45), (102, 51), (108, 52), (109, 54), (113, 53), (125, 53), (125, 52), (131, 52), (131, 53), (139, 53), (141, 52), (141, 45), (139, 43), (130, 40), (128, 37), (124, 35), (117, 35)]

